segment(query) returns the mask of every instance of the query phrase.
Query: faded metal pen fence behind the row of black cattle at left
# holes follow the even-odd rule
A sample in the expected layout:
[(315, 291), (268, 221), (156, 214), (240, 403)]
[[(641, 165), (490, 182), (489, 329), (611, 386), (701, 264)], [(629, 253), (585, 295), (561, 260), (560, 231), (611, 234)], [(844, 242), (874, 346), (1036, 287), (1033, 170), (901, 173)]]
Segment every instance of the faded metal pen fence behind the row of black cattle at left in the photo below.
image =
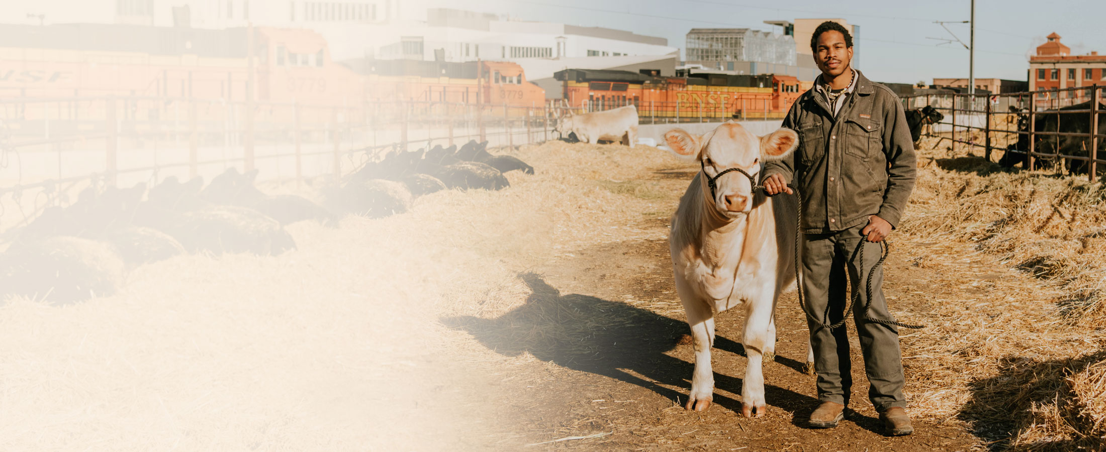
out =
[[(0, 101), (0, 223), (85, 187), (155, 185), (258, 168), (259, 179), (341, 178), (395, 150), (547, 140), (549, 105), (397, 102), (347, 107), (157, 97)], [(10, 216), (9, 216), (10, 217)]]

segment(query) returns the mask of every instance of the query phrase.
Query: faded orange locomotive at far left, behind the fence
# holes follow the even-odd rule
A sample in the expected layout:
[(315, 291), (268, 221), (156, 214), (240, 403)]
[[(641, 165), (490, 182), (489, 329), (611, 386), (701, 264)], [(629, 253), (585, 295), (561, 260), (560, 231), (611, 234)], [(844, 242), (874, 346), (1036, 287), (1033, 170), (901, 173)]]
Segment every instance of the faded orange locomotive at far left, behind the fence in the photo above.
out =
[(364, 120), (364, 77), (334, 63), (314, 31), (87, 23), (0, 24), (0, 119), (64, 134), (117, 115), (121, 130), (155, 132), (195, 108), (196, 120), (237, 128), (251, 66), (258, 124), (280, 128), (296, 112), (305, 127)]

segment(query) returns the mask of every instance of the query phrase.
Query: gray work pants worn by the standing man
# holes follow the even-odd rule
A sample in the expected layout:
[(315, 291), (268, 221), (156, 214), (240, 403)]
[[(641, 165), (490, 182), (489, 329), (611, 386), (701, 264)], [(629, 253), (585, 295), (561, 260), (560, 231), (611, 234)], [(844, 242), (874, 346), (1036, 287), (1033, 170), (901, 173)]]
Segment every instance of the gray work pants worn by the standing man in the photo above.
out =
[[(847, 230), (828, 234), (804, 234), (803, 291), (806, 308), (816, 319), (835, 324), (845, 316), (848, 304), (845, 293), (845, 271), (852, 282), (853, 293), (860, 294), (853, 309), (864, 368), (868, 376), (868, 399), (877, 411), (890, 407), (906, 407), (902, 397), (902, 358), (899, 351), (898, 328), (866, 320), (865, 306), (868, 295), (865, 288), (868, 272), (879, 261), (881, 250), (878, 243), (868, 242), (860, 235), (867, 222)], [(860, 255), (857, 246), (864, 241), (864, 269), (859, 269)], [(884, 273), (877, 269), (872, 277), (872, 303), (868, 317), (894, 320), (887, 312), (887, 301), (883, 292)], [(810, 318), (811, 348), (814, 349), (814, 369), (817, 371), (818, 400), (848, 404), (853, 386), (852, 360), (849, 360), (847, 324), (838, 328), (822, 327)]]

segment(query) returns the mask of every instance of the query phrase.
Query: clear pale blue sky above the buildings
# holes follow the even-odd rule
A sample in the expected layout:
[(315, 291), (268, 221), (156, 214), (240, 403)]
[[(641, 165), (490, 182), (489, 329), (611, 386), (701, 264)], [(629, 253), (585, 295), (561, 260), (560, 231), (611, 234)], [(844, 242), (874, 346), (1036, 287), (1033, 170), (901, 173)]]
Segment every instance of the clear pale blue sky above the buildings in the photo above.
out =
[[(968, 50), (927, 38), (951, 35), (933, 21), (969, 19), (969, 0), (727, 1), (727, 0), (428, 0), (522, 20), (607, 27), (668, 39), (682, 51), (692, 28), (769, 30), (765, 20), (844, 18), (860, 25), (860, 71), (878, 82), (967, 77)], [(947, 27), (969, 42), (967, 23)], [(1073, 54), (1106, 54), (1106, 1), (975, 1), (975, 76), (1025, 80), (1029, 55), (1056, 32)], [(779, 31), (779, 27), (775, 28)], [(682, 52), (681, 52), (682, 57)]]

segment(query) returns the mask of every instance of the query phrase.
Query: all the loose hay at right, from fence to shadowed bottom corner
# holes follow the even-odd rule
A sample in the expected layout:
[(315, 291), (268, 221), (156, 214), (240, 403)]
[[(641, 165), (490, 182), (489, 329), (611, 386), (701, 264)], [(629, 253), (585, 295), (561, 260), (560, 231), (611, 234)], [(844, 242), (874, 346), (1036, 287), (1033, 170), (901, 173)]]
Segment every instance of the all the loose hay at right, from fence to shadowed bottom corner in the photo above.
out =
[(957, 322), (977, 326), (920, 333), (936, 359), (919, 370), (940, 382), (921, 385), (922, 395), (943, 407), (937, 396), (953, 378), (969, 378), (967, 391), (952, 391), (957, 417), (998, 449), (1106, 450), (1106, 188), (1085, 176), (1004, 170), (947, 149), (920, 154), (901, 228), (935, 248), (968, 244), (1058, 294), (1041, 297), (1002, 277), (971, 283), (985, 302), (960, 299), (962, 308), (946, 309), (960, 309)]

